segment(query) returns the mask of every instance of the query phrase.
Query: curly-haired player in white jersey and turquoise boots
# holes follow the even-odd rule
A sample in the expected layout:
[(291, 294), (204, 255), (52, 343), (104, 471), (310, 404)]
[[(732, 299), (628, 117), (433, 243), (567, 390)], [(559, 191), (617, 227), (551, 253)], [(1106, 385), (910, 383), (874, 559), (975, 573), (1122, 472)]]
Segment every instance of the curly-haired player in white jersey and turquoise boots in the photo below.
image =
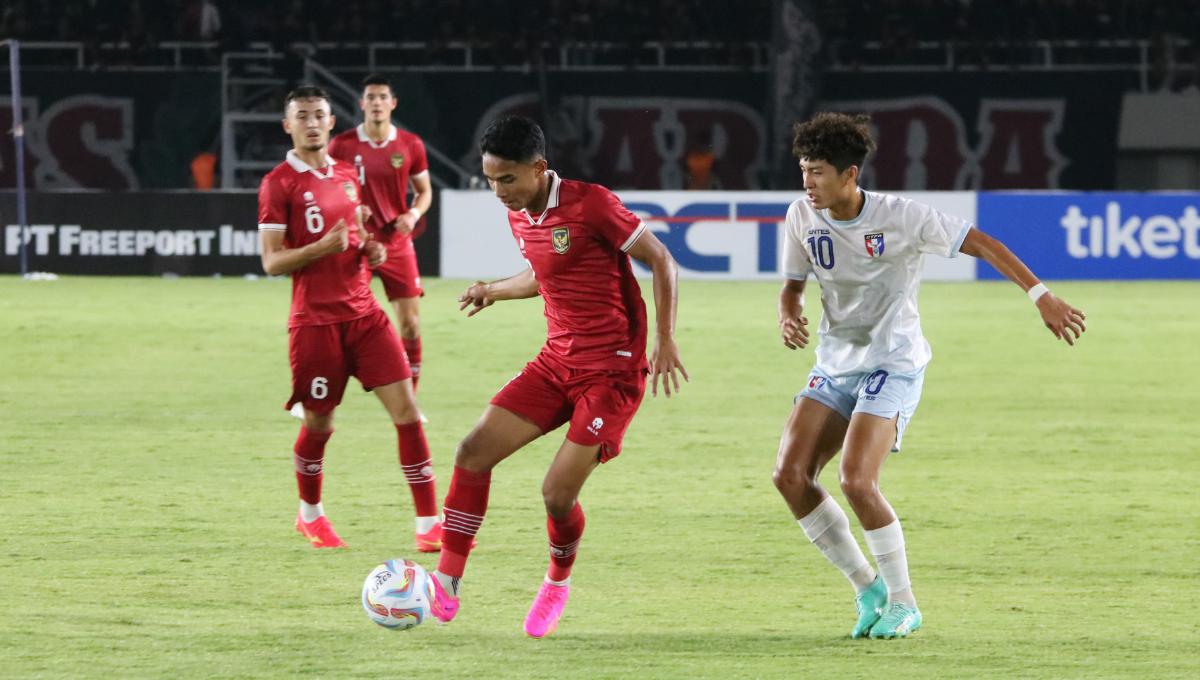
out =
[[(970, 222), (905, 198), (863, 191), (859, 170), (875, 149), (866, 116), (822, 113), (796, 126), (793, 154), (806, 197), (787, 211), (779, 329), (790, 349), (809, 343), (804, 284), (821, 284), (816, 366), (779, 444), (775, 487), (804, 534), (854, 585), (851, 637), (905, 637), (920, 627), (904, 532), (880, 493), (880, 468), (900, 450), (931, 353), (917, 289), (926, 253), (982, 258), (1037, 305), (1055, 337), (1074, 344), (1084, 313), (1056, 297), (1003, 243)], [(875, 556), (817, 477), (838, 451), (839, 480)]]

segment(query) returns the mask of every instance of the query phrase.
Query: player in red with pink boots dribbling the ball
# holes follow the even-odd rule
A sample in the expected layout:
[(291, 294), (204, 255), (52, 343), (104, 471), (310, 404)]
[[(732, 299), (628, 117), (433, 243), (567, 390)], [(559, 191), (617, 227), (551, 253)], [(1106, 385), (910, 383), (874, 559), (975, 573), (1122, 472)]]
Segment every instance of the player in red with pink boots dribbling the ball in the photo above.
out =
[[(542, 482), (550, 568), (524, 621), (533, 637), (550, 633), (566, 604), (571, 566), (583, 535), (577, 497), (598, 464), (620, 443), (646, 392), (659, 379), (670, 397), (688, 373), (674, 342), (674, 259), (608, 189), (563, 180), (547, 169), (541, 128), (526, 118), (492, 122), (479, 143), (484, 175), (509, 209), (509, 227), (529, 267), (502, 281), (478, 282), (458, 299), (474, 315), (497, 300), (541, 295), (546, 344), (494, 397), (458, 445), (444, 503), (442, 556), (433, 572), (433, 614), (458, 609), (458, 583), (484, 520), (491, 471), (542, 434), (570, 423)], [(632, 255), (654, 273), (656, 333), (646, 356), (646, 305)], [(678, 372), (678, 374), (677, 374)]]

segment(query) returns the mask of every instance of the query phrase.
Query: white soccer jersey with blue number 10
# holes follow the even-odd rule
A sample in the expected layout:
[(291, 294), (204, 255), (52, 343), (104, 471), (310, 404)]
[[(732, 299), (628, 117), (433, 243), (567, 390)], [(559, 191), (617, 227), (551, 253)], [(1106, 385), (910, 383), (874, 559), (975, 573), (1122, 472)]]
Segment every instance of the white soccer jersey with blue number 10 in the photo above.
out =
[(925, 253), (953, 258), (971, 223), (886, 193), (863, 191), (846, 222), (806, 198), (787, 210), (784, 273), (821, 284), (817, 367), (832, 377), (883, 369), (912, 373), (932, 353), (920, 332), (917, 290)]

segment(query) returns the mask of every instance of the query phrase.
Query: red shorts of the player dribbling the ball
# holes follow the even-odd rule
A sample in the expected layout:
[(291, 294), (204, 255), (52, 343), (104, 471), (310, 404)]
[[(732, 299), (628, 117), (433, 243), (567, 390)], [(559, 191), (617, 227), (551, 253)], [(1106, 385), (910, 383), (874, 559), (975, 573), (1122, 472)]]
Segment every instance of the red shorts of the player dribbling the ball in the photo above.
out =
[(542, 432), (570, 422), (566, 439), (582, 446), (599, 444), (600, 462), (606, 463), (620, 453), (644, 393), (644, 371), (568, 368), (539, 354), (492, 397), (492, 404), (533, 421)]

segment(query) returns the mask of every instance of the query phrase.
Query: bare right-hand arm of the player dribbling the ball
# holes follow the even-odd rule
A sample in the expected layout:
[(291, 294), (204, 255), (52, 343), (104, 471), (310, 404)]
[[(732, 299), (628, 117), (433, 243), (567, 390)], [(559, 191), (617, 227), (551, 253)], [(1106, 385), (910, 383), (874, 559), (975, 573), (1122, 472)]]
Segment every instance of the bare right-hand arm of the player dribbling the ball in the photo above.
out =
[(654, 273), (655, 332), (654, 348), (650, 350), (650, 395), (659, 396), (659, 378), (662, 378), (662, 391), (670, 398), (672, 385), (674, 391), (679, 392), (679, 375), (690, 381), (688, 369), (679, 361), (679, 348), (674, 343), (676, 308), (679, 305), (679, 267), (671, 257), (671, 251), (649, 229), (646, 229), (626, 252), (646, 263)]

